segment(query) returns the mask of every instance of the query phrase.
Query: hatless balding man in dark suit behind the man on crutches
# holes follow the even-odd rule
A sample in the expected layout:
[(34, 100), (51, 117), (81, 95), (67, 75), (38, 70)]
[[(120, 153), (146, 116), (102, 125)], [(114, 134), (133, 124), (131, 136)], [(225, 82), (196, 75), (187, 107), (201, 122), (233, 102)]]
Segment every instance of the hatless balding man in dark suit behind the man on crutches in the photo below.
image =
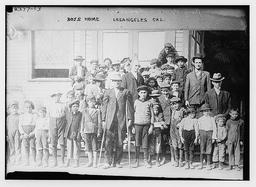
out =
[(145, 83), (141, 74), (138, 73), (140, 62), (138, 60), (133, 60), (130, 65), (132, 69), (129, 73), (122, 76), (123, 81), (121, 87), (131, 91), (132, 103), (134, 103), (134, 101), (138, 99), (137, 88), (145, 85)]

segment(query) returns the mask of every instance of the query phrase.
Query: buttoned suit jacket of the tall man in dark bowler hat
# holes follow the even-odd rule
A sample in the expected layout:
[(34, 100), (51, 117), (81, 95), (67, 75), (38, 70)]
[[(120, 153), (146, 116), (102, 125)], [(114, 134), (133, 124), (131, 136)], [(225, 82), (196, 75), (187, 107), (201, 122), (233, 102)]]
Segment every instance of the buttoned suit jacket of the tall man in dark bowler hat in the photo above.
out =
[(201, 74), (201, 78), (198, 80), (195, 71), (192, 71), (187, 75), (184, 97), (185, 101), (189, 101), (189, 104), (202, 104), (204, 102), (205, 92), (212, 89), (210, 73), (202, 71)]

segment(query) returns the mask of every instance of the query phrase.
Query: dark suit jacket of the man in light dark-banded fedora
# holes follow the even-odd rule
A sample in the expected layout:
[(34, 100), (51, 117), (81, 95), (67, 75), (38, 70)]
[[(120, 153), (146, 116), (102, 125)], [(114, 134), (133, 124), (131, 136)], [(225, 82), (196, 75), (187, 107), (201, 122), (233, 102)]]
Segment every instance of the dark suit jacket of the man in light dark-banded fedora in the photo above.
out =
[(210, 104), (211, 108), (211, 116), (216, 116), (217, 114), (223, 114), (226, 118), (229, 118), (229, 112), (231, 109), (231, 97), (227, 91), (220, 90), (220, 108), (218, 113), (218, 104), (217, 104), (217, 94), (212, 88), (211, 90), (207, 91), (204, 95), (205, 103)]

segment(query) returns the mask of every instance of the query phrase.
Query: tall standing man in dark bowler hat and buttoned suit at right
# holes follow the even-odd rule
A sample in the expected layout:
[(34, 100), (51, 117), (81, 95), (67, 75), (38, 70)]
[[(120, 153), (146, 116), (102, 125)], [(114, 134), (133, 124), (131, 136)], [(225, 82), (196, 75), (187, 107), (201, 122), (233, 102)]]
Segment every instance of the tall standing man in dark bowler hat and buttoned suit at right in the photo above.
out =
[(192, 61), (195, 64), (195, 70), (188, 73), (185, 84), (185, 105), (194, 105), (199, 108), (204, 104), (204, 94), (211, 90), (210, 73), (202, 70), (204, 57), (198, 53)]

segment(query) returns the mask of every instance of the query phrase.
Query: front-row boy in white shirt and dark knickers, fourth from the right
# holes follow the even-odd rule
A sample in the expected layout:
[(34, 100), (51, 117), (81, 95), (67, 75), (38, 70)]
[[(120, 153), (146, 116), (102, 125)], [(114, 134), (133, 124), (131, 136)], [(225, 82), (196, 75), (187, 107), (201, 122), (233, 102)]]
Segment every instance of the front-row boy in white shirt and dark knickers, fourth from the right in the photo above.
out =
[(199, 126), (196, 116), (196, 109), (193, 105), (186, 108), (187, 117), (183, 118), (179, 124), (180, 140), (184, 143), (185, 169), (195, 169), (193, 166), (194, 149), (197, 143)]

